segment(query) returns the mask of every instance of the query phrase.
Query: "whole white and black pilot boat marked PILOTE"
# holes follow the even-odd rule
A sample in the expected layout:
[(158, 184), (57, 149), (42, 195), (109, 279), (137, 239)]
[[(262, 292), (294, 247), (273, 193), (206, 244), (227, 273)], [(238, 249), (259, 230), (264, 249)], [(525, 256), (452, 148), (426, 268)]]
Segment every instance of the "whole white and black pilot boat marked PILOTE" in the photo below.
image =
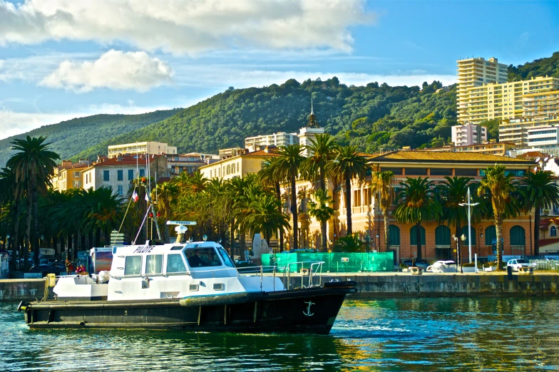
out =
[[(113, 248), (111, 272), (61, 277), (54, 301), (21, 303), (26, 324), (49, 328), (328, 334), (354, 281), (286, 289), (281, 278), (240, 274), (215, 242)], [(252, 268), (254, 269), (254, 268)], [(320, 280), (320, 277), (317, 277)]]

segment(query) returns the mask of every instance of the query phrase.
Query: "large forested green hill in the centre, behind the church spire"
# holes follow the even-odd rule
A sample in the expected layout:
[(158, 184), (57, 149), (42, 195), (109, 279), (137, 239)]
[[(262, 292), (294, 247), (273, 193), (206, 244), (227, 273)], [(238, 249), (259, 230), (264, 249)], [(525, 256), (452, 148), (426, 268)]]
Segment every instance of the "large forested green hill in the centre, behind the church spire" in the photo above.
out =
[[(436, 93), (441, 84), (390, 87), (369, 83), (345, 86), (327, 81), (293, 79), (265, 88), (228, 89), (182, 110), (171, 118), (98, 143), (80, 157), (106, 153), (108, 145), (158, 140), (179, 152), (217, 153), (243, 146), (245, 137), (297, 132), (307, 124), (311, 98), (319, 125), (342, 143), (362, 150), (441, 145), (456, 124), (456, 87)], [(435, 138), (435, 140), (434, 140)]]

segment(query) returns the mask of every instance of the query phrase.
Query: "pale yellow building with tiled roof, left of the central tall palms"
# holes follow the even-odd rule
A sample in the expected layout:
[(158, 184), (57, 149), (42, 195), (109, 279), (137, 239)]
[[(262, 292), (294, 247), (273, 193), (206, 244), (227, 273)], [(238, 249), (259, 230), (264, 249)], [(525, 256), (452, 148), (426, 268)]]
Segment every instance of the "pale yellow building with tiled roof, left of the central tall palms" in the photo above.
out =
[(272, 156), (275, 147), (266, 147), (263, 150), (253, 151), (252, 153), (238, 153), (238, 155), (226, 157), (225, 159), (199, 167), (198, 170), (202, 177), (211, 180), (212, 178), (222, 178), (230, 180), (235, 177), (243, 177), (249, 173), (259, 172), (265, 164), (265, 160)]

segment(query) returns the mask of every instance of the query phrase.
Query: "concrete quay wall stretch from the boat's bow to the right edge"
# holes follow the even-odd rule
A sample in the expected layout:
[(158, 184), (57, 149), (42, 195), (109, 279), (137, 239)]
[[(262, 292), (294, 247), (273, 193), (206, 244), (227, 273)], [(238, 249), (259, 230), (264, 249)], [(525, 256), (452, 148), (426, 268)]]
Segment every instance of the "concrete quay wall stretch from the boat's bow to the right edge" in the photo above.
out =
[[(284, 284), (287, 278), (284, 278)], [(452, 296), (559, 296), (558, 274), (324, 274), (322, 281), (357, 281), (361, 297)], [(290, 288), (301, 286), (301, 277), (290, 277)], [(317, 283), (317, 278), (314, 279)], [(304, 285), (308, 284), (308, 277)]]

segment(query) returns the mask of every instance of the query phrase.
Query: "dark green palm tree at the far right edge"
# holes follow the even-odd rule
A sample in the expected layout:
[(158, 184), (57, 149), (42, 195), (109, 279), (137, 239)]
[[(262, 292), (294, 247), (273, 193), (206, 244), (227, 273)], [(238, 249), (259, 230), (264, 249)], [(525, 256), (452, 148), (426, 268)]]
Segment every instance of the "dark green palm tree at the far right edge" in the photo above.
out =
[(559, 204), (559, 187), (555, 176), (547, 170), (529, 172), (520, 179), (525, 210), (534, 208), (534, 254), (540, 254), (540, 210)]

